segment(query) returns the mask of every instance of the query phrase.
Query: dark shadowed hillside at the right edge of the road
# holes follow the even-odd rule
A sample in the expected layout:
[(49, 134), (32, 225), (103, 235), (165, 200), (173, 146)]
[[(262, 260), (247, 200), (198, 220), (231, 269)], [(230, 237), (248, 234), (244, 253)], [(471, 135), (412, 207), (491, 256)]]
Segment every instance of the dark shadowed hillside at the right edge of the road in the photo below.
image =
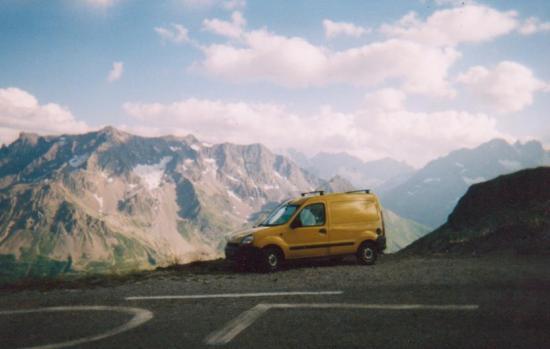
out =
[(403, 253), (550, 253), (550, 167), (472, 185), (447, 222)]

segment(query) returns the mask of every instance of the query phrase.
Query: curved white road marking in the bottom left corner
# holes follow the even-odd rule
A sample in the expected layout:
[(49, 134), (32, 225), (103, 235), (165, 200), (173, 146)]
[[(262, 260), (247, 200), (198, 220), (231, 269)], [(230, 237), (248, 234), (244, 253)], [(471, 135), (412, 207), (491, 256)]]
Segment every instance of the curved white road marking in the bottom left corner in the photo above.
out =
[(33, 313), (51, 313), (51, 312), (71, 312), (71, 311), (116, 311), (120, 313), (127, 313), (134, 315), (134, 317), (127, 323), (115, 327), (104, 333), (100, 333), (93, 336), (82, 337), (73, 339), (66, 342), (59, 342), (53, 344), (37, 345), (34, 347), (26, 347), (24, 349), (58, 349), (65, 348), (74, 345), (95, 342), (100, 339), (112, 337), (122, 332), (129, 331), (135, 327), (143, 325), (147, 321), (153, 318), (153, 313), (146, 309), (130, 308), (130, 307), (109, 307), (109, 306), (74, 306), (74, 307), (49, 307), (49, 308), (36, 308), (36, 309), (24, 309), (24, 310), (2, 310), (0, 315), (16, 315), (16, 314), (33, 314)]

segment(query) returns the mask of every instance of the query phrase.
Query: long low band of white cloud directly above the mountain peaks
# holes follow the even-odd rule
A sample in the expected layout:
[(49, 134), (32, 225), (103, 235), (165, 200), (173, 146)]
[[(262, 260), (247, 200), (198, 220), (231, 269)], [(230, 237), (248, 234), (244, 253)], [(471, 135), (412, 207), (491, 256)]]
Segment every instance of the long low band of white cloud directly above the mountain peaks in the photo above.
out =
[(148, 135), (192, 133), (212, 142), (261, 142), (272, 149), (294, 147), (309, 154), (346, 151), (364, 159), (391, 156), (415, 165), (459, 147), (505, 136), (496, 130), (495, 119), (485, 114), (410, 112), (397, 90), (372, 96), (385, 96), (387, 103), (351, 113), (323, 107), (307, 115), (274, 104), (205, 99), (126, 103), (123, 109), (138, 121), (127, 129)]

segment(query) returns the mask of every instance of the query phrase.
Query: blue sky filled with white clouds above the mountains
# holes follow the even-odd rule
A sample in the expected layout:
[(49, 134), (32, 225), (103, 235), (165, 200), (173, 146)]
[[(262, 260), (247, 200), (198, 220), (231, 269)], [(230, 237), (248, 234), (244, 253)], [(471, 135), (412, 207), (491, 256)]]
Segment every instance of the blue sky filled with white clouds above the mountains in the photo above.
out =
[(0, 141), (110, 124), (416, 166), (548, 146), (549, 39), (542, 0), (4, 0)]

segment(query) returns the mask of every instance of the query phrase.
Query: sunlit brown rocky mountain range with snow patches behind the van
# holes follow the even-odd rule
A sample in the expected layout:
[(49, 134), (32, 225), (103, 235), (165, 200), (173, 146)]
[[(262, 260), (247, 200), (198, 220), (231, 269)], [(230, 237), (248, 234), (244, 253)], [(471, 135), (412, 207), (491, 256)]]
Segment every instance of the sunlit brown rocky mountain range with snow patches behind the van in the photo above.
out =
[[(22, 133), (0, 148), (0, 279), (216, 258), (224, 235), (319, 188), (354, 187), (338, 176), (322, 180), (260, 144), (146, 138), (112, 127)], [(409, 221), (388, 217), (389, 245), (412, 242), (400, 237)]]

